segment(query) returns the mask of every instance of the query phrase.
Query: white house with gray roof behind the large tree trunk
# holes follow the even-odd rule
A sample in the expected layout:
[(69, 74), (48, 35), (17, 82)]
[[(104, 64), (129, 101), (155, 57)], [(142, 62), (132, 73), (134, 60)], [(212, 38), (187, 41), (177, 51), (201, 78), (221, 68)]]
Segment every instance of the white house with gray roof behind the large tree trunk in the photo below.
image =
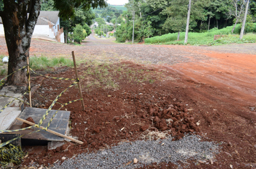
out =
[[(64, 42), (63, 28), (60, 29), (59, 11), (40, 11), (37, 24), (32, 37), (44, 37), (56, 39), (58, 42)], [(0, 34), (4, 34), (3, 22), (0, 18)]]

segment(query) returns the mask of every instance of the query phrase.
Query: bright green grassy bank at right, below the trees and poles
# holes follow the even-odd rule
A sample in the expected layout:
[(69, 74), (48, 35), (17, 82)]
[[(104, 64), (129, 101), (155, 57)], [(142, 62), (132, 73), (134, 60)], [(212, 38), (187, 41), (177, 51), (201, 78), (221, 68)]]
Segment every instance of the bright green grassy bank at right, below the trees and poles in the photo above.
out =
[[(239, 32), (239, 24), (237, 24), (234, 32)], [(227, 26), (224, 29), (211, 29), (208, 32), (188, 33), (188, 44), (191, 45), (219, 45), (232, 43), (255, 43), (256, 34), (245, 34), (243, 39), (239, 39), (239, 34), (231, 34), (233, 26)], [(222, 37), (214, 41), (214, 35), (221, 35)], [(185, 32), (180, 32), (180, 41), (176, 41), (178, 33), (164, 34), (163, 36), (152, 37), (145, 39), (146, 44), (184, 44)]]

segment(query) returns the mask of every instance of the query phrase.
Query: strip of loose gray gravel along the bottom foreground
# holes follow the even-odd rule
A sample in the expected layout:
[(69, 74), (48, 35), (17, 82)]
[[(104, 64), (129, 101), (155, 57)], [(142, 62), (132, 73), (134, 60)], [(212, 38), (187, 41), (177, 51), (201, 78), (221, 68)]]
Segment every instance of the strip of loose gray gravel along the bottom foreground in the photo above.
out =
[[(219, 152), (216, 143), (203, 142), (198, 135), (186, 135), (183, 139), (138, 140), (123, 143), (97, 153), (83, 153), (67, 159), (53, 168), (140, 168), (150, 163), (186, 163), (186, 160), (201, 160), (209, 163)], [(137, 158), (138, 163), (133, 163)], [(129, 163), (132, 162), (132, 163)]]

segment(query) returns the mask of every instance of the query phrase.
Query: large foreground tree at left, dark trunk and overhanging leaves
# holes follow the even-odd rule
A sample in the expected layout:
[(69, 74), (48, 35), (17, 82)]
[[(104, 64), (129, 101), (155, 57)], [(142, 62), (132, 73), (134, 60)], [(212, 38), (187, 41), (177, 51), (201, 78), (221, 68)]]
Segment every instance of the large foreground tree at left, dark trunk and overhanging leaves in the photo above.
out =
[[(9, 52), (8, 74), (26, 66), (29, 57), (29, 47), (32, 33), (40, 14), (40, 0), (1, 0), (4, 4), (0, 12), (4, 24), (4, 34)], [(54, 7), (60, 11), (63, 19), (74, 16), (75, 9), (82, 6), (88, 10), (91, 7), (106, 6), (104, 0), (54, 0)], [(8, 77), (9, 84), (27, 83), (26, 72), (15, 72)]]

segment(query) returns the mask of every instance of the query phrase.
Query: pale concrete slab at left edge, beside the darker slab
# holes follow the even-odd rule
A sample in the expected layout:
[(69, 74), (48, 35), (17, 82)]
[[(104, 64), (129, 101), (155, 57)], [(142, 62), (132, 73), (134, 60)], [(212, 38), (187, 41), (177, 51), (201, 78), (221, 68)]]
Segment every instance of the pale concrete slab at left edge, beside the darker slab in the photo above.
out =
[(16, 117), (21, 114), (19, 107), (6, 107), (0, 113), (0, 130), (8, 130), (12, 126)]

